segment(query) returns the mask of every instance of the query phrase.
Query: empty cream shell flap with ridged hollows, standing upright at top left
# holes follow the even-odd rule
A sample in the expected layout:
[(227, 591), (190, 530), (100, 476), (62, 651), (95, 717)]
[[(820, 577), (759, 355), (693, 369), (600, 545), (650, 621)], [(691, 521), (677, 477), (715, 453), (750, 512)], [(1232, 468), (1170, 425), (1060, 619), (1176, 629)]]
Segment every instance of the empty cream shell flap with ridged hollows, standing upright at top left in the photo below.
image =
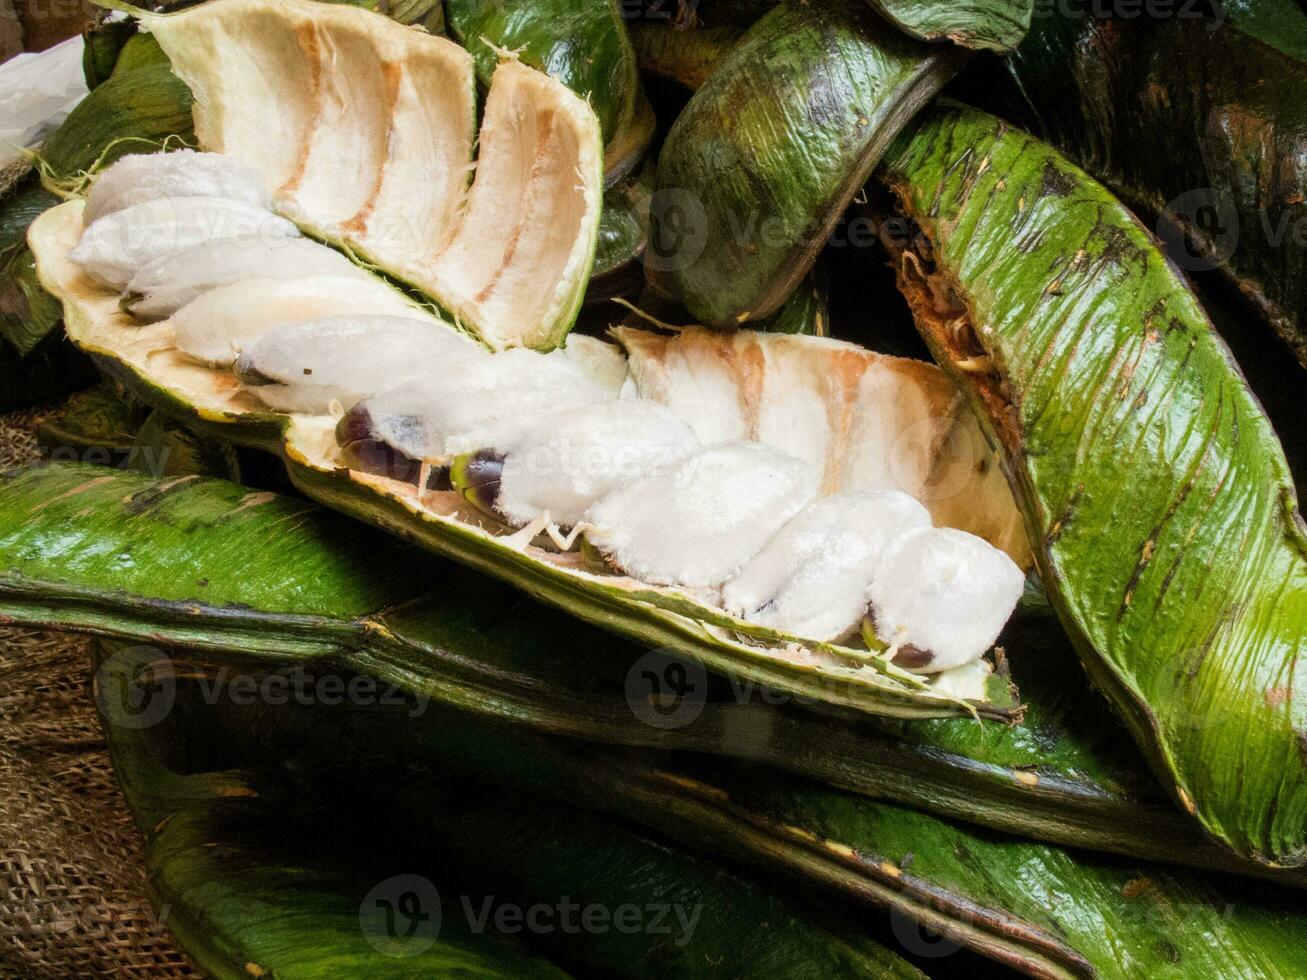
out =
[(281, 214), (430, 294), (494, 349), (566, 337), (604, 153), (593, 111), (565, 85), (501, 61), (478, 136), (472, 56), (370, 10), (108, 5), (139, 17), (191, 88), (200, 145), (255, 167)]

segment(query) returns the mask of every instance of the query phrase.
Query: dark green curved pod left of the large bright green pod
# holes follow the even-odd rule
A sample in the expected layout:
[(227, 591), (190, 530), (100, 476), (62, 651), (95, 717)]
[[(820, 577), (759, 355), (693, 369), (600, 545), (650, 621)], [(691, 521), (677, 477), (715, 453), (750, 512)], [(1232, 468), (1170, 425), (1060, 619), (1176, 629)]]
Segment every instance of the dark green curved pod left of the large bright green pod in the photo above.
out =
[(650, 284), (706, 327), (775, 311), (889, 141), (961, 61), (903, 38), (861, 0), (779, 5), (668, 133)]

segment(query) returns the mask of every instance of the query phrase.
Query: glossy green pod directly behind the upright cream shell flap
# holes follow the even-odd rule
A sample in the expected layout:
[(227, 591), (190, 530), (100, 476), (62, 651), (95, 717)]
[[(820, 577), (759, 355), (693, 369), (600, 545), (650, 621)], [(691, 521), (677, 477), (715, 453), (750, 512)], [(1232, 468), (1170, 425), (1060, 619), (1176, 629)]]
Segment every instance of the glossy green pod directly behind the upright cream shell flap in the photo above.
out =
[(482, 85), (499, 60), (495, 48), (519, 52), (523, 63), (589, 99), (604, 133), (605, 183), (635, 170), (654, 137), (654, 111), (616, 0), (446, 0), (444, 7), (450, 34), (472, 52)]

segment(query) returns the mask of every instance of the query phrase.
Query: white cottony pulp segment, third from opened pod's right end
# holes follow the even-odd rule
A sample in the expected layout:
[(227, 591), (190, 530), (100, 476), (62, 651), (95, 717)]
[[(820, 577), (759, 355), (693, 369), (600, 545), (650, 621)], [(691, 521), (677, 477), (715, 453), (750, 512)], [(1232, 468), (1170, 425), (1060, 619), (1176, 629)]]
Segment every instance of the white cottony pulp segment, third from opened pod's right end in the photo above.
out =
[(819, 480), (758, 443), (691, 452), (599, 500), (587, 540), (643, 581), (708, 588), (736, 574), (812, 500)]

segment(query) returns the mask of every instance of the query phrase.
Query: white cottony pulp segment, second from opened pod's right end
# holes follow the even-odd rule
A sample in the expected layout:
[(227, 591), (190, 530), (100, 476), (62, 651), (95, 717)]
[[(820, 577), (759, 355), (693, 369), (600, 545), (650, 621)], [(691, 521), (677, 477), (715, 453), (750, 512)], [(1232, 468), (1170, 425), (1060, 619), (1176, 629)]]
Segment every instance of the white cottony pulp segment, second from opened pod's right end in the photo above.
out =
[(886, 550), (931, 527), (931, 514), (893, 490), (813, 500), (721, 589), (728, 613), (797, 636), (855, 632)]

